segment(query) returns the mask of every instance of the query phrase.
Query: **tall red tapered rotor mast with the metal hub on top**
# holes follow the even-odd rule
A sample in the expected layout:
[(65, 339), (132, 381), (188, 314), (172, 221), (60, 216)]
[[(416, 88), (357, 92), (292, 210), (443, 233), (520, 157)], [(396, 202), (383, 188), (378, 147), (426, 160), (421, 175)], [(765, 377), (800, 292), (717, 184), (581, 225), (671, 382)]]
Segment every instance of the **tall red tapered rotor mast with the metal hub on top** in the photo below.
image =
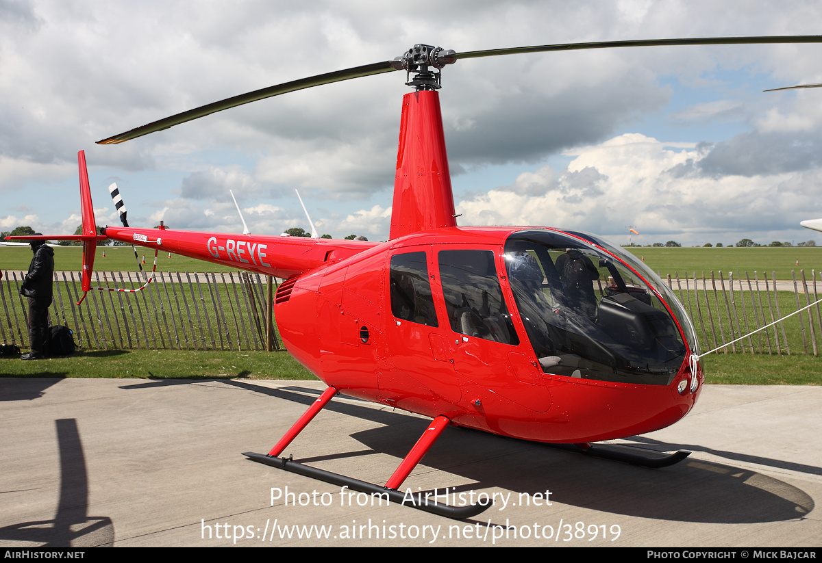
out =
[[(399, 125), (394, 203), (390, 240), (446, 227), (456, 227), (454, 194), (442, 130), (441, 69), (456, 62), (454, 51), (418, 44), (391, 62), (408, 73)], [(413, 76), (412, 76), (413, 75)]]

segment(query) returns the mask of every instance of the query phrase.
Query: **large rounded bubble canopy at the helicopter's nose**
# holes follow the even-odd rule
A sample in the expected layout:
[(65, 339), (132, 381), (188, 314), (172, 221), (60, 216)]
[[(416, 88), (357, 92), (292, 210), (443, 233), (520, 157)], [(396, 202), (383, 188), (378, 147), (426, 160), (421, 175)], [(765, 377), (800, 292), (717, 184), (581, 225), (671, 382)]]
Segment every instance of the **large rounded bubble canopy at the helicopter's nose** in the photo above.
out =
[(699, 354), (690, 318), (644, 263), (578, 231), (510, 235), (506, 272), (545, 373), (668, 385)]

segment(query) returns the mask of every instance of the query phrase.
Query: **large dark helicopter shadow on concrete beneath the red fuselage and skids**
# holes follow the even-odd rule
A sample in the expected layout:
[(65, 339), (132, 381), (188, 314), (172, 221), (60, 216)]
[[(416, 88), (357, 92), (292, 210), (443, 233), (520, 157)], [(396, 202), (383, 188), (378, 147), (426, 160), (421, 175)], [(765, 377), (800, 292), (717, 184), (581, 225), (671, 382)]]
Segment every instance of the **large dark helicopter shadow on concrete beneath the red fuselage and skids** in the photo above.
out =
[[(268, 389), (246, 382), (231, 382), (287, 401), (310, 405), (321, 393), (307, 387)], [(360, 404), (358, 404), (360, 403)], [(331, 401), (326, 410), (380, 423), (353, 433), (366, 446), (362, 451), (337, 455), (304, 457), (301, 463), (316, 463), (373, 454), (404, 458), (429, 421), (411, 414), (373, 409), (366, 401)], [(311, 427), (306, 432), (310, 432)], [(625, 447), (625, 446), (618, 446)], [(679, 446), (653, 442), (643, 452), (677, 450)], [(695, 451), (710, 451), (695, 447)], [(781, 460), (750, 455), (727, 455), (761, 465), (783, 467), (817, 474), (819, 468), (791, 467)], [(750, 469), (704, 460), (686, 459), (664, 469), (647, 469), (615, 461), (598, 460), (560, 451), (537, 442), (500, 437), (467, 428), (446, 429), (423, 459), (423, 465), (454, 475), (455, 481), (442, 483), (450, 493), (501, 487), (513, 492), (517, 504), (547, 490), (552, 502), (613, 514), (657, 520), (710, 524), (754, 524), (796, 520), (810, 513), (815, 502), (806, 492), (777, 478)], [(334, 470), (326, 465), (326, 469)], [(358, 475), (349, 475), (357, 478)], [(409, 486), (413, 474), (404, 483)], [(543, 509), (544, 510), (544, 509)]]

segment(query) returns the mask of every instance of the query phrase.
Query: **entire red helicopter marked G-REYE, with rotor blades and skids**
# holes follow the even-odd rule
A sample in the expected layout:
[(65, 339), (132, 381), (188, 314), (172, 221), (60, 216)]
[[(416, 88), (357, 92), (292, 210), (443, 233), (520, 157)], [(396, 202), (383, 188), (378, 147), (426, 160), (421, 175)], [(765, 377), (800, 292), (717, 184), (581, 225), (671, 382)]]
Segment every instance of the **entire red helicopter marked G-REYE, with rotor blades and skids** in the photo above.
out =
[[(254, 236), (128, 227), (96, 231), (84, 153), (78, 161), (90, 291), (95, 243), (113, 239), (281, 277), (275, 317), (289, 352), (328, 387), (268, 454), (250, 459), (388, 497), (451, 518), (488, 506), (447, 506), (399, 487), (448, 426), (571, 445), (576, 451), (663, 467), (690, 452), (646, 457), (591, 442), (649, 433), (695, 405), (704, 375), (686, 310), (632, 254), (598, 236), (552, 227), (460, 227), (451, 192), (437, 89), (464, 58), (584, 48), (820, 43), (822, 36), (566, 43), (470, 53), (418, 44), (393, 61), (312, 76), (167, 117), (101, 140), (141, 135), (298, 89), (404, 70), (387, 242)], [(85, 295), (85, 294), (84, 294)], [(430, 417), (385, 485), (280, 457), (337, 393)]]

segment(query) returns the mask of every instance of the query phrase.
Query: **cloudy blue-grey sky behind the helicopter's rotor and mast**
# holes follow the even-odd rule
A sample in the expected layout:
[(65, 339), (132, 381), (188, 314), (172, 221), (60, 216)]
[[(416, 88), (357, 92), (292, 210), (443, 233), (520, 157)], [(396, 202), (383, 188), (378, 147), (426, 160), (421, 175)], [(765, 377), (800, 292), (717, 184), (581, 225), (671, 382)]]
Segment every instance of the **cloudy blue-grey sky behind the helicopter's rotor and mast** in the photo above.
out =
[[(404, 72), (270, 98), (123, 144), (96, 140), (305, 76), (399, 56), (550, 43), (820, 34), (822, 3), (0, 0), (0, 230), (80, 224), (307, 228), (385, 240)], [(461, 225), (617, 243), (794, 243), (822, 217), (822, 45), (540, 53), (459, 61), (441, 105)], [(822, 238), (822, 236), (816, 236)]]

